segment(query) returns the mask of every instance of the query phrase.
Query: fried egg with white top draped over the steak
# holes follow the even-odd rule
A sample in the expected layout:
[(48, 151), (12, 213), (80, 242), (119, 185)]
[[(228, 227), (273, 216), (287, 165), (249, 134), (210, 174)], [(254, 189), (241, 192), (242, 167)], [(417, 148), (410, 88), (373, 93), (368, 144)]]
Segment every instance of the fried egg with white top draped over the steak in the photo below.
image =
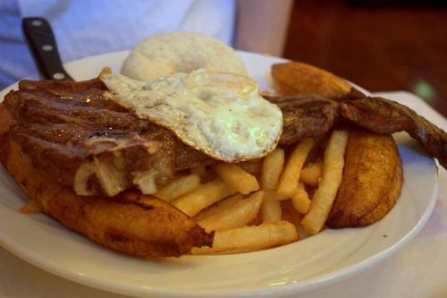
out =
[(280, 108), (259, 95), (256, 81), (237, 73), (202, 69), (136, 81), (102, 72), (100, 79), (109, 98), (225, 162), (265, 156), (283, 130)]

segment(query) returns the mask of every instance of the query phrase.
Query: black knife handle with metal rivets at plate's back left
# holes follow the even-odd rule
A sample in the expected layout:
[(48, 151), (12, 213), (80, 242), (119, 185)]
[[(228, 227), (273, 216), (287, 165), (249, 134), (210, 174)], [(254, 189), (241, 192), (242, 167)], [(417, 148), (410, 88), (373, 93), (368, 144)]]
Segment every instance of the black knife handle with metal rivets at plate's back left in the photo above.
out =
[(44, 78), (56, 81), (72, 80), (72, 77), (63, 69), (55, 35), (48, 21), (38, 17), (23, 18), (21, 28), (38, 71)]

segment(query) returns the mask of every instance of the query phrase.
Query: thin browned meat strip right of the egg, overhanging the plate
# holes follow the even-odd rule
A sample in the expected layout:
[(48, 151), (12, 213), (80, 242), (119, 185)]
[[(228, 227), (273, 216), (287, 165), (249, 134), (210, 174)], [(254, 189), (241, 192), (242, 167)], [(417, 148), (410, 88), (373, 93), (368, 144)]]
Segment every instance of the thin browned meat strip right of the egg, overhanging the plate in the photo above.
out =
[(291, 144), (309, 135), (324, 134), (335, 123), (348, 123), (376, 133), (405, 131), (447, 168), (447, 134), (409, 107), (395, 101), (367, 97), (355, 89), (333, 99), (314, 94), (267, 99), (283, 111), (281, 144)]

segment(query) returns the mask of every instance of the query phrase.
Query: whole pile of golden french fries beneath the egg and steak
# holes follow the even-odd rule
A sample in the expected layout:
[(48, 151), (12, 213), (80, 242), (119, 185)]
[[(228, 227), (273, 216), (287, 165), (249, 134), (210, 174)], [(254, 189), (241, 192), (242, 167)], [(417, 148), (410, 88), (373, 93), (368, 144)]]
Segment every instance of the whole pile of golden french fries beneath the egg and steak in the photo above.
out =
[(215, 232), (213, 247), (193, 248), (192, 254), (257, 251), (295, 242), (324, 228), (342, 183), (347, 141), (348, 132), (333, 131), (325, 140), (301, 140), (256, 161), (197, 168), (156, 196)]

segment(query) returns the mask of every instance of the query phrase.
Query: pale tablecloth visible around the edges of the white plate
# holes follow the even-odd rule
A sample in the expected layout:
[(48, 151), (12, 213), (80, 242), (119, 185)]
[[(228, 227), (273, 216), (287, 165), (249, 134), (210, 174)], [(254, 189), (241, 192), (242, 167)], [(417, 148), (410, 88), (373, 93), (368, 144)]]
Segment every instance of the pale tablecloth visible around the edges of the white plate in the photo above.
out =
[[(417, 110), (447, 131), (447, 121), (408, 92), (377, 93)], [(13, 256), (0, 248), (0, 298), (95, 297), (119, 294), (78, 285)], [(417, 237), (388, 260), (339, 283), (292, 297), (447, 297), (447, 172), (439, 168), (439, 194), (434, 212)]]

